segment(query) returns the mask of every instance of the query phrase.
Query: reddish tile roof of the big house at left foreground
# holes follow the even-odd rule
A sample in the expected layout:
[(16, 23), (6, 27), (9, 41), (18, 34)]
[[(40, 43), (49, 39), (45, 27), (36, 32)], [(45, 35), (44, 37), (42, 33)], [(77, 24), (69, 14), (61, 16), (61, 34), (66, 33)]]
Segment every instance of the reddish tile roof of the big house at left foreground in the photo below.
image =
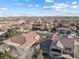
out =
[(20, 45), (26, 43), (26, 45), (28, 46), (36, 40), (35, 37), (37, 35), (38, 34), (36, 34), (36, 32), (21, 33), (17, 36), (12, 37), (11, 42), (18, 43)]

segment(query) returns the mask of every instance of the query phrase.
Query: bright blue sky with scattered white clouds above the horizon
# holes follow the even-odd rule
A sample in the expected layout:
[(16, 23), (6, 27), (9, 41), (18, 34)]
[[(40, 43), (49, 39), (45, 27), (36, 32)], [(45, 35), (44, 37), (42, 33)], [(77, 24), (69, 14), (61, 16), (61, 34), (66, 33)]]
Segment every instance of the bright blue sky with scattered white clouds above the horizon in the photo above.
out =
[(79, 16), (79, 0), (0, 0), (0, 16)]

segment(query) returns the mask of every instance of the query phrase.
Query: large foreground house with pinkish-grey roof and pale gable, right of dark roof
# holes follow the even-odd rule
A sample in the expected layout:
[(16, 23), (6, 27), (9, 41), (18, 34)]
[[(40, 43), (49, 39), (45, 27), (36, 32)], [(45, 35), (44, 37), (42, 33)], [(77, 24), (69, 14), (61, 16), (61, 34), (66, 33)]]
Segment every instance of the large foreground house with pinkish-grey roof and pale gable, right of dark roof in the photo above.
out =
[(54, 34), (53, 36), (53, 44), (50, 47), (52, 53), (50, 55), (56, 54), (62, 56), (64, 53), (74, 55), (74, 38), (69, 38), (65, 35), (58, 36), (56, 34)]

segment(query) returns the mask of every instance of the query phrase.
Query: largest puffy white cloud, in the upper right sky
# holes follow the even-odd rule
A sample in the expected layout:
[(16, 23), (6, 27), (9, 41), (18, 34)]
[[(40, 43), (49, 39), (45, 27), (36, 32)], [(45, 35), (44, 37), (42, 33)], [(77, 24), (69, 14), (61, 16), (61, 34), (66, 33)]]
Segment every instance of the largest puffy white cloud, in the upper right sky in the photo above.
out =
[(53, 6), (44, 6), (43, 8), (46, 10), (52, 10), (63, 14), (67, 13), (68, 11), (68, 5), (65, 3), (55, 3)]

